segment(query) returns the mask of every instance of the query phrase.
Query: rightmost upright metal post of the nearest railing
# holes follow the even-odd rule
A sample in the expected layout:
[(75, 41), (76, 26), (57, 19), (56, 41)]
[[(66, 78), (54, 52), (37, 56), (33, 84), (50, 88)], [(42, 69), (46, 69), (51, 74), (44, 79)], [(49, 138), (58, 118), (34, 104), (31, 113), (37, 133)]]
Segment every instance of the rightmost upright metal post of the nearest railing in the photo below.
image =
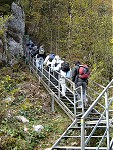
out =
[(107, 149), (110, 149), (109, 137), (109, 107), (108, 107), (108, 94), (105, 92), (105, 109), (106, 109), (106, 127), (107, 127)]

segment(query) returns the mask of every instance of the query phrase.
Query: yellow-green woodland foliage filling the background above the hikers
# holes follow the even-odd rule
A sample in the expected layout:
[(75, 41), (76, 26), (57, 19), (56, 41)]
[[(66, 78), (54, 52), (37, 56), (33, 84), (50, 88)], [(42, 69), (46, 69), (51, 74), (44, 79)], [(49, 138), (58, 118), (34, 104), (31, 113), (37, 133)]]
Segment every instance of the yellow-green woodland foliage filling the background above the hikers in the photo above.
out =
[(21, 5), (27, 16), (27, 32), (34, 41), (43, 42), (47, 51), (65, 53), (72, 61), (79, 58), (92, 66), (102, 61), (106, 66), (103, 76), (111, 79), (110, 1), (21, 0)]

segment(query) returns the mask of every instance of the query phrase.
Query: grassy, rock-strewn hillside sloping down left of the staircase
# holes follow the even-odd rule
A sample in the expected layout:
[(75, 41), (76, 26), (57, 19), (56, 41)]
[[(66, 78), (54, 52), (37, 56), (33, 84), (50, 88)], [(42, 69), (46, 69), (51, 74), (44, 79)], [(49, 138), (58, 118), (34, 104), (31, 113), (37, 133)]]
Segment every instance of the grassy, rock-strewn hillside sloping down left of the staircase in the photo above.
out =
[(1, 150), (45, 150), (71, 122), (22, 61), (0, 70), (0, 106)]

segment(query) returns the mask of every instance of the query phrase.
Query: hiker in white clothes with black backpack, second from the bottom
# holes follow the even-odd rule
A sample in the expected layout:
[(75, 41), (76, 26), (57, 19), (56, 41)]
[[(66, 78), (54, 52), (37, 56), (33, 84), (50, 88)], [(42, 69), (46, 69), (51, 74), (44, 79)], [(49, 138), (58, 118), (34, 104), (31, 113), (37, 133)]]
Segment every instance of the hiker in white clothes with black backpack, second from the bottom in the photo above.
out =
[(62, 96), (64, 97), (66, 94), (66, 77), (67, 74), (70, 72), (70, 66), (69, 63), (65, 61), (65, 59), (63, 59), (63, 62), (61, 63), (61, 69), (60, 69), (60, 85), (62, 88)]

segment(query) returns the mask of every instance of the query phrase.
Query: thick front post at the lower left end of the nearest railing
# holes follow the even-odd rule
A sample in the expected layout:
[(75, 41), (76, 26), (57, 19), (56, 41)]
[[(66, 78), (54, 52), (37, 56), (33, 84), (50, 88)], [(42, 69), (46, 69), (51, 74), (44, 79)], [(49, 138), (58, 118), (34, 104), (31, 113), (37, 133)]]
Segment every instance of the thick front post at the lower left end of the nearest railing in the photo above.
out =
[(85, 120), (81, 118), (81, 150), (85, 150)]

